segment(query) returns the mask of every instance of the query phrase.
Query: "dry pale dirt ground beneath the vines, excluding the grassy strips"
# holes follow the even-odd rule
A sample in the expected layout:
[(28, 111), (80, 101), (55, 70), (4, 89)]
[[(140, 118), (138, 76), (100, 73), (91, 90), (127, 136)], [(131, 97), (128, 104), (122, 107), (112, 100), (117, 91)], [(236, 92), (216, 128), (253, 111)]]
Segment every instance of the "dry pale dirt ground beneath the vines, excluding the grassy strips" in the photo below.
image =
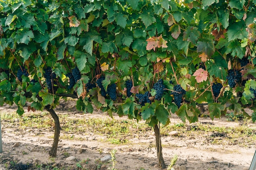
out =
[[(109, 118), (106, 113), (100, 111), (95, 111), (92, 114), (82, 114), (72, 108), (74, 108), (74, 103), (67, 102), (60, 105), (56, 113), (68, 114), (70, 117), (81, 119)], [(1, 114), (15, 112), (16, 109), (8, 105), (0, 107)], [(30, 112), (26, 114), (30, 114)], [(114, 115), (114, 119), (127, 120), (127, 118), (119, 118), (117, 115)], [(171, 123), (177, 124), (179, 122), (182, 121), (173, 115)], [(217, 126), (224, 127), (240, 126), (240, 122), (227, 122), (226, 118), (215, 119), (214, 121), (211, 121), (210, 118), (200, 118), (200, 122), (214, 123)], [(131, 139), (126, 144), (118, 145), (103, 142), (104, 136), (90, 132), (83, 135), (86, 140), (62, 139), (63, 132), (61, 131), (57, 157), (51, 158), (48, 151), (53, 142), (53, 128), (48, 130), (25, 128), (25, 130), (21, 130), (17, 126), (9, 126), (9, 122), (5, 121), (2, 121), (1, 125), (3, 152), (0, 153), (0, 170), (7, 169), (8, 163), (13, 160), (38, 165), (37, 168), (31, 169), (54, 169), (54, 166), (56, 166), (55, 170), (79, 169), (80, 166), (88, 170), (111, 169), (111, 161), (101, 164), (101, 166), (106, 166), (101, 168), (97, 162), (102, 157), (109, 155), (112, 149), (117, 150), (117, 163), (115, 165), (117, 170), (157, 170), (155, 168), (157, 163), (157, 154), (154, 147), (155, 136), (152, 129), (149, 129), (146, 134), (141, 134), (140, 137)], [(256, 129), (256, 125), (252, 122), (248, 126)], [(70, 135), (78, 137), (81, 134)], [(176, 164), (183, 165), (186, 170), (249, 170), (256, 149), (256, 142), (249, 146), (240, 146), (238, 143), (215, 145), (204, 141), (205, 139), (200, 135), (194, 137), (162, 136), (163, 157), (166, 165), (170, 163), (173, 155), (177, 154)], [(13, 147), (14, 144), (18, 146)], [(74, 156), (76, 159), (67, 161), (67, 156)]]

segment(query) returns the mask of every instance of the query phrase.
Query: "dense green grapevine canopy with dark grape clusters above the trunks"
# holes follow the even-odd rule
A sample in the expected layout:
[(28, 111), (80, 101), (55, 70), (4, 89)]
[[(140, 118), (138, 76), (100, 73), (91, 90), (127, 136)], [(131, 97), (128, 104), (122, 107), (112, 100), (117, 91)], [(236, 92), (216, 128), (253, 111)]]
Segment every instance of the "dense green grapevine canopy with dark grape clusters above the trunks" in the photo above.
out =
[[(200, 103), (209, 103), (211, 118), (224, 113), (226, 103), (234, 113), (245, 113), (255, 102), (249, 90), (256, 87), (255, 5), (255, 0), (0, 2), (0, 69), (9, 70), (0, 74), (0, 105), (16, 103), (22, 114), (26, 101), (42, 110), (69, 94), (79, 98), (77, 108), (84, 112), (92, 112), (94, 104), (110, 115), (142, 117), (150, 126), (168, 123), (169, 113), (197, 121)], [(203, 77), (193, 76), (200, 68)], [(97, 80), (97, 87), (89, 80)], [(216, 81), (224, 86), (218, 101)], [(256, 120), (256, 108), (251, 109)]]

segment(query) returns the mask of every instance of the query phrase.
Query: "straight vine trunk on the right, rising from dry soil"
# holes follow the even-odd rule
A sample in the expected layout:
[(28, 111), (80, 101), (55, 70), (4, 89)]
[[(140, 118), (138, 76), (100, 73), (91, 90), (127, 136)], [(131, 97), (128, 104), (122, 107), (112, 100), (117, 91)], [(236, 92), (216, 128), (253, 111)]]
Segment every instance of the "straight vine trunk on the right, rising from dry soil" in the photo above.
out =
[(155, 143), (157, 146), (158, 167), (164, 169), (164, 168), (166, 168), (166, 166), (165, 166), (164, 158), (163, 158), (163, 154), (162, 154), (160, 130), (159, 130), (159, 127), (157, 124), (154, 126), (154, 131), (155, 131)]

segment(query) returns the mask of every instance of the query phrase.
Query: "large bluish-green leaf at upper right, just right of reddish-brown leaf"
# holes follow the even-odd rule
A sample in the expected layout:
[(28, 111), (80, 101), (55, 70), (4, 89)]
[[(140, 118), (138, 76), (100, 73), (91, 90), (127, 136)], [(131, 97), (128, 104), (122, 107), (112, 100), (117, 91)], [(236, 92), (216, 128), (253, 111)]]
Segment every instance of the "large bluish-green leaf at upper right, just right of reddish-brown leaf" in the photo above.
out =
[(241, 22), (229, 26), (229, 30), (227, 31), (229, 41), (234, 39), (244, 39), (247, 38), (247, 36), (248, 32), (245, 30), (245, 26), (242, 26)]

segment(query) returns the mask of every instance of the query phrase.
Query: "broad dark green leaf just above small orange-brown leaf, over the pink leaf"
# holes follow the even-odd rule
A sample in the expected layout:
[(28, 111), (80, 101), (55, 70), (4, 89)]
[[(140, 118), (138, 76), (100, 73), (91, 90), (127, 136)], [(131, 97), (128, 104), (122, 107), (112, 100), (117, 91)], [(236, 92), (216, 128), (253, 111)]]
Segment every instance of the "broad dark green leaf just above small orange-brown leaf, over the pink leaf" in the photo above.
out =
[(211, 57), (215, 51), (212, 39), (202, 39), (196, 46), (198, 52), (204, 52), (208, 57)]

